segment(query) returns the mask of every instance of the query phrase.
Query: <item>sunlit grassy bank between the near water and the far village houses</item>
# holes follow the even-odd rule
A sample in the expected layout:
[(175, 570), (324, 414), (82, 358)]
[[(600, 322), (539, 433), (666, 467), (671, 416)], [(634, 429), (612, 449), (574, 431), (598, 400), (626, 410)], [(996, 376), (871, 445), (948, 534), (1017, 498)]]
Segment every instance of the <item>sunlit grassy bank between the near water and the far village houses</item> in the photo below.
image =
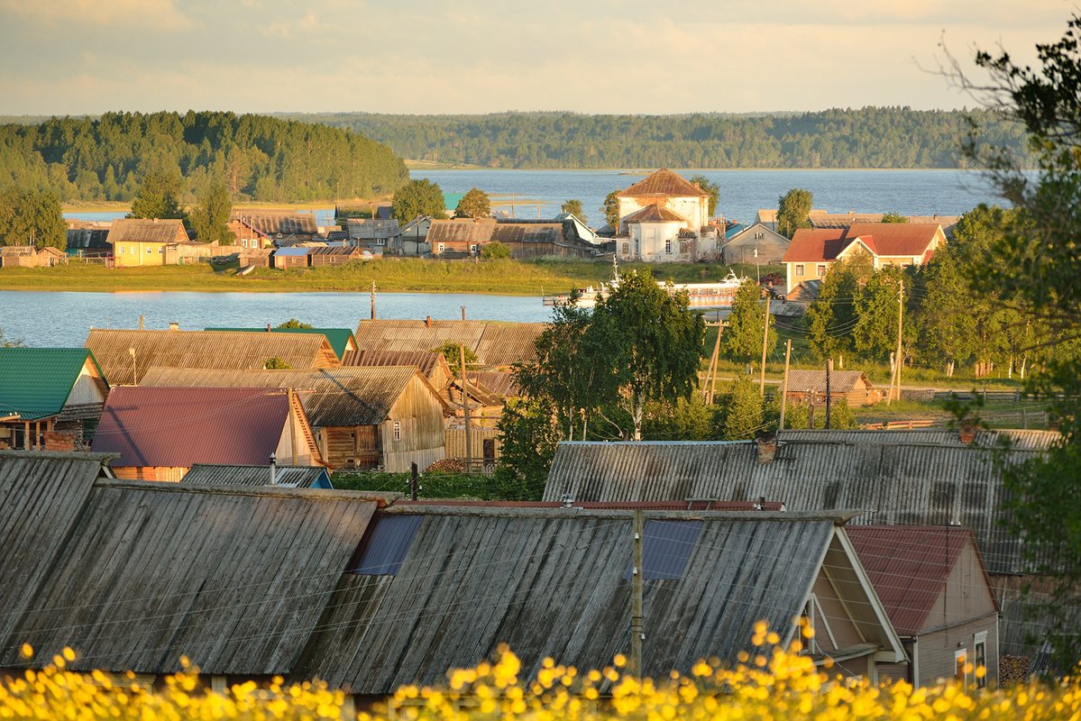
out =
[[(625, 270), (644, 267), (626, 266)], [(296, 291), (368, 292), (375, 281), (385, 292), (498, 293), (540, 295), (565, 293), (571, 288), (597, 284), (611, 276), (611, 266), (592, 261), (431, 261), (386, 258), (345, 266), (271, 270), (259, 268), (239, 277), (236, 264), (105, 268), (72, 262), (56, 268), (4, 268), (0, 290), (5, 291)], [(716, 265), (676, 265), (654, 269), (677, 282), (713, 280), (728, 272)], [(753, 267), (750, 268), (753, 273)], [(764, 272), (764, 270), (763, 270)], [(705, 278), (704, 278), (705, 275)]]

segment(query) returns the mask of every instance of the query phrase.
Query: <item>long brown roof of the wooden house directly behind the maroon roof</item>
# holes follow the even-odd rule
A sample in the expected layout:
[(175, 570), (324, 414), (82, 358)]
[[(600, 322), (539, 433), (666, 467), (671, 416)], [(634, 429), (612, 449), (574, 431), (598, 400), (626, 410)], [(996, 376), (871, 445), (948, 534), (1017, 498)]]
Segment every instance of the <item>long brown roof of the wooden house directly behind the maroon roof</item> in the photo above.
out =
[[(313, 371), (200, 371), (157, 368), (139, 383), (175, 388), (293, 388), (317, 428), (374, 426), (418, 375), (415, 366), (335, 368)], [(266, 457), (259, 458), (263, 463)]]

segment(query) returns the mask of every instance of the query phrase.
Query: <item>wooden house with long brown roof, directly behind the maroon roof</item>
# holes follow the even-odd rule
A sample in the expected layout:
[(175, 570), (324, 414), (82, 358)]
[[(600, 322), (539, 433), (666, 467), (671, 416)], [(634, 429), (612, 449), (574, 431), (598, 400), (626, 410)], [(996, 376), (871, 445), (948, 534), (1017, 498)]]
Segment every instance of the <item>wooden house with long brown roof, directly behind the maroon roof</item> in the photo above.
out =
[(293, 388), (331, 468), (406, 471), (444, 457), (443, 403), (415, 366), (316, 371), (155, 369), (145, 385)]

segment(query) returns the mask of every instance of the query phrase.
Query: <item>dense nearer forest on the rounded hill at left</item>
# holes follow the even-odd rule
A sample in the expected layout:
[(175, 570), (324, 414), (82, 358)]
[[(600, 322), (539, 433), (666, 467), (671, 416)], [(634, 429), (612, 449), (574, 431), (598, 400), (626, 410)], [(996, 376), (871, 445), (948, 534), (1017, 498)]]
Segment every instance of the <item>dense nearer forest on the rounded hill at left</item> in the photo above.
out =
[(232, 112), (107, 112), (0, 125), (0, 187), (63, 201), (130, 201), (150, 173), (183, 178), (186, 200), (224, 182), (235, 200), (371, 198), (409, 179), (359, 132)]

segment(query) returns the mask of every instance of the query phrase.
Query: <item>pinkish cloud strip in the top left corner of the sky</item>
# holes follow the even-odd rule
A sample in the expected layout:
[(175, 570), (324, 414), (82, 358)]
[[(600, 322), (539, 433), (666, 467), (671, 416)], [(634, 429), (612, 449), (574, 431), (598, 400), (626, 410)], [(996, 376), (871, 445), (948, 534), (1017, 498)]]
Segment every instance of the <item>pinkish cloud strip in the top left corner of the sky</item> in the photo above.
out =
[(53, 26), (186, 30), (191, 21), (172, 0), (0, 0), (0, 11)]

